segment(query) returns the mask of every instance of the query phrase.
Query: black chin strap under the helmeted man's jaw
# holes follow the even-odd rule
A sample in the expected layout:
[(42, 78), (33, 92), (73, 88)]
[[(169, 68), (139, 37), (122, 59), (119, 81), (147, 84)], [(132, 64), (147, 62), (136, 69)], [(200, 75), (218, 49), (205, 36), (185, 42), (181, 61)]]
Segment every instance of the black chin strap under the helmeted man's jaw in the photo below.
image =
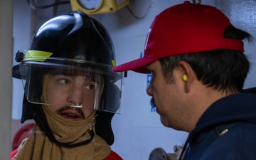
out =
[[(95, 125), (95, 122), (93, 122), (90, 126), (90, 129), (88, 129), (87, 132), (85, 132), (85, 134), (87, 134), (87, 133), (90, 134), (90, 139), (87, 139), (84, 142), (79, 142), (76, 144), (58, 142), (58, 140), (55, 139), (55, 137), (53, 136), (53, 132), (49, 127), (49, 124), (46, 120), (46, 116), (42, 110), (42, 107), (35, 107), (35, 108), (37, 108), (37, 109), (35, 110), (35, 113), (33, 114), (33, 119), (38, 124), (38, 126), (43, 130), (43, 132), (46, 134), (46, 136), (55, 144), (59, 144), (60, 146), (64, 146), (66, 148), (74, 148), (77, 146), (89, 144), (90, 142), (92, 142), (92, 139), (95, 137), (95, 132), (93, 132), (93, 129), (92, 129), (93, 126)], [(94, 118), (94, 120), (95, 120), (95, 118)]]

